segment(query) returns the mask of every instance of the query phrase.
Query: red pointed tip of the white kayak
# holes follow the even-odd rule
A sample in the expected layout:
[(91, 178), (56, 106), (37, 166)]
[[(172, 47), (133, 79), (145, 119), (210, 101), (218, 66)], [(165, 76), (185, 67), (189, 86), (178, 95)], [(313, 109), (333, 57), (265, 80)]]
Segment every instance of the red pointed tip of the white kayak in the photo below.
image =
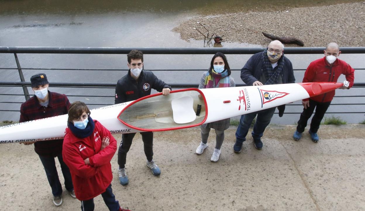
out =
[(336, 83), (336, 82), (312, 82), (312, 83), (298, 83), (298, 84), (303, 86), (304, 89), (306, 89), (306, 91), (309, 94), (309, 97), (314, 97), (316, 95), (324, 94), (326, 92), (343, 87), (343, 83)]

